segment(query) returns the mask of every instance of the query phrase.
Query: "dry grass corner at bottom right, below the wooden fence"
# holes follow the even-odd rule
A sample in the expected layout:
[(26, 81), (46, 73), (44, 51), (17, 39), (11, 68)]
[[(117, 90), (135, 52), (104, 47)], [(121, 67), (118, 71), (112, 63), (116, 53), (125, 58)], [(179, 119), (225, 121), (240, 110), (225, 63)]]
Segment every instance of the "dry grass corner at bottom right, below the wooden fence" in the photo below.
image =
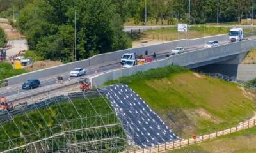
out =
[(220, 136), (216, 139), (196, 143), (195, 145), (189, 145), (182, 147), (181, 149), (175, 149), (168, 153), (210, 153), (210, 152), (232, 152), (232, 153), (252, 153), (256, 152), (256, 127), (239, 131), (237, 133), (231, 133), (230, 135)]

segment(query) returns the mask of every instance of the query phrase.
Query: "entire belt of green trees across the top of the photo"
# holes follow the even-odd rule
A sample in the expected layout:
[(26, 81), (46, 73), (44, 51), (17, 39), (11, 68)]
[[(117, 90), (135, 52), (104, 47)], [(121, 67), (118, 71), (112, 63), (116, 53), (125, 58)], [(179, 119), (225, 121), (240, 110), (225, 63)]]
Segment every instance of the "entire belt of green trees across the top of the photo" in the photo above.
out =
[[(218, 0), (191, 0), (191, 23), (216, 22)], [(17, 27), (29, 49), (44, 59), (74, 61), (74, 12), (77, 10), (77, 59), (130, 48), (123, 31), (128, 18), (138, 25), (188, 23), (189, 0), (0, 0), (0, 15), (19, 13)], [(146, 7), (145, 7), (146, 6)], [(219, 0), (219, 22), (252, 17), (252, 0)]]

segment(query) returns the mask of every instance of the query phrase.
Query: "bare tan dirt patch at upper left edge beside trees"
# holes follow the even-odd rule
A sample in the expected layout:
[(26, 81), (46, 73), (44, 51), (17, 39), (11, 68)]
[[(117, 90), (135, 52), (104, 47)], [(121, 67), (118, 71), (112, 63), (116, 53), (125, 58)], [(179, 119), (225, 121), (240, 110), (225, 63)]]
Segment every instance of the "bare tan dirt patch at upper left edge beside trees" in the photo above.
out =
[(25, 36), (22, 36), (15, 28), (13, 28), (9, 24), (0, 23), (0, 27), (2, 27), (5, 33), (8, 36), (8, 40), (16, 40), (16, 39), (24, 39)]

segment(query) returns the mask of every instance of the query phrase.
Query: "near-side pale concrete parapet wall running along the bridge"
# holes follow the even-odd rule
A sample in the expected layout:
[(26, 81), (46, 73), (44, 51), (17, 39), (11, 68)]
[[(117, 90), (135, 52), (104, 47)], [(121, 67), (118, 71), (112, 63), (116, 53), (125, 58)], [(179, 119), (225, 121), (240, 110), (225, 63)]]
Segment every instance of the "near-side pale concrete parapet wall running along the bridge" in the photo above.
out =
[(255, 40), (240, 41), (237, 43), (229, 43), (227, 45), (220, 45), (213, 48), (204, 48), (193, 52), (186, 52), (184, 54), (172, 55), (166, 59), (159, 61), (149, 62), (147, 64), (141, 64), (138, 66), (132, 66), (131, 68), (123, 68), (115, 71), (109, 71), (101, 75), (90, 78), (92, 85), (102, 85), (108, 80), (116, 80), (122, 76), (129, 76), (138, 71), (147, 71), (152, 68), (159, 68), (170, 64), (186, 66), (196, 64), (208, 64), (209, 61), (219, 61), (219, 59), (225, 60), (223, 57), (235, 57), (234, 55), (241, 54), (242, 52), (248, 52), (250, 48), (256, 48)]

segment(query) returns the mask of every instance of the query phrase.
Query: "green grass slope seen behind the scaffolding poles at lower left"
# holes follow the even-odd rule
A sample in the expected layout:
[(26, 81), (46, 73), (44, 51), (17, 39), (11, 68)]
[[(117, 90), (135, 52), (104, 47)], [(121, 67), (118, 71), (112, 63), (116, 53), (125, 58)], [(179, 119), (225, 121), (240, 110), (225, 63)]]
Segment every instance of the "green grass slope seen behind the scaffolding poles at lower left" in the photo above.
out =
[[(40, 140), (45, 136), (46, 137), (51, 136), (52, 134), (60, 133), (61, 131), (64, 131), (64, 130), (67, 131), (72, 129), (84, 128), (83, 126), (81, 126), (81, 120), (79, 119), (79, 114), (81, 115), (82, 118), (87, 117), (87, 119), (83, 119), (83, 124), (84, 126), (86, 126), (85, 128), (90, 126), (93, 127), (93, 126), (103, 125), (102, 120), (104, 121), (105, 124), (118, 122), (117, 117), (115, 116), (115, 114), (113, 114), (113, 111), (108, 106), (110, 105), (109, 101), (107, 105), (106, 101), (104, 101), (103, 98), (90, 99), (90, 103), (92, 103), (97, 113), (99, 113), (99, 115), (102, 115), (102, 120), (99, 117), (95, 117), (96, 113), (94, 112), (93, 107), (90, 105), (90, 103), (87, 100), (85, 99), (76, 100), (73, 103), (76, 106), (77, 111), (75, 110), (74, 106), (71, 103), (60, 103), (61, 109), (58, 105), (52, 105), (48, 109), (40, 109), (40, 113), (42, 114), (44, 119), (38, 111), (29, 112), (28, 117), (31, 120), (31, 122), (33, 122), (33, 124), (31, 124), (31, 122), (29, 121), (28, 117), (26, 117), (26, 115), (15, 116), (14, 120), (17, 126), (19, 126), (19, 129), (20, 131), (22, 131), (23, 135), (30, 135), (30, 136), (26, 136), (26, 139), (29, 142)], [(79, 114), (77, 112), (79, 112)], [(109, 114), (112, 113), (112, 115), (107, 116), (106, 114), (108, 113)], [(60, 124), (63, 129), (61, 129), (61, 127), (59, 126)], [(35, 125), (36, 129), (34, 128), (33, 125)], [(6, 133), (8, 133), (8, 135), (11, 137), (11, 139), (17, 138), (14, 141), (16, 145), (19, 146), (24, 144), (24, 139), (20, 138), (20, 136), (22, 137), (22, 135), (19, 129), (15, 126), (13, 122), (3, 123), (2, 126), (5, 129)], [(0, 128), (0, 142), (6, 142), (6, 140), (9, 139), (8, 136), (5, 134), (5, 132), (3, 131), (3, 128)], [(51, 128), (53, 133), (51, 133), (49, 128)], [(38, 137), (36, 130), (40, 131), (39, 132), (41, 135), (40, 138)], [(111, 131), (110, 130), (106, 131), (104, 128), (104, 129), (99, 129), (96, 132), (99, 132), (99, 133), (96, 134), (95, 131), (87, 131), (87, 133), (83, 131), (83, 133), (82, 132), (77, 133), (78, 134), (77, 141), (79, 142), (79, 140), (83, 138), (86, 138), (86, 140), (88, 138), (91, 139), (91, 138), (94, 138), (94, 136), (104, 137), (105, 135), (107, 135), (107, 133), (110, 133), (110, 132), (114, 132), (116, 135), (118, 135), (119, 133), (122, 133), (122, 129), (112, 128)], [(100, 132), (102, 132), (102, 135)], [(72, 137), (72, 143), (74, 143), (74, 140), (76, 138), (73, 135), (71, 137)], [(56, 145), (56, 144), (54, 143), (53, 145)], [(8, 142), (1, 143), (1, 150), (8, 149), (8, 146), (9, 146)], [(49, 146), (52, 146), (52, 144), (51, 145), (49, 144)]]

